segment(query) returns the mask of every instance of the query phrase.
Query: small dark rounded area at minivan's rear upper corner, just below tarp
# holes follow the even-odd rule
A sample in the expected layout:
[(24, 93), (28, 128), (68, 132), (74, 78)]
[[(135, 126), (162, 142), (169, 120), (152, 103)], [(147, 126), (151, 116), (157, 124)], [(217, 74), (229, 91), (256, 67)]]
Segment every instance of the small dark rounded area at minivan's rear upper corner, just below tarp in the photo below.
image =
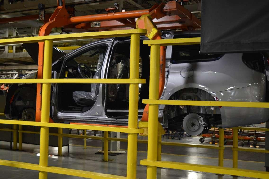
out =
[(244, 53), (242, 59), (250, 69), (265, 73), (264, 58), (261, 53)]

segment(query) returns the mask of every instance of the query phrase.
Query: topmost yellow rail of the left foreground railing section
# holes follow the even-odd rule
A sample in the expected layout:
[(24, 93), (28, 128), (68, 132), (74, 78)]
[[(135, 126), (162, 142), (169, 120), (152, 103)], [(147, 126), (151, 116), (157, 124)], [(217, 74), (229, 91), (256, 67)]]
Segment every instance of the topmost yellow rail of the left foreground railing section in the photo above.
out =
[(21, 38), (7, 38), (0, 41), (0, 45), (9, 45), (14, 43), (33, 43), (42, 42), (45, 40), (71, 40), (71, 39), (87, 39), (87, 38), (109, 38), (109, 37), (127, 37), (131, 34), (146, 34), (146, 29), (131, 29), (131, 30), (113, 30), (99, 32), (85, 32), (72, 34), (59, 34), (50, 36), (35, 36)]

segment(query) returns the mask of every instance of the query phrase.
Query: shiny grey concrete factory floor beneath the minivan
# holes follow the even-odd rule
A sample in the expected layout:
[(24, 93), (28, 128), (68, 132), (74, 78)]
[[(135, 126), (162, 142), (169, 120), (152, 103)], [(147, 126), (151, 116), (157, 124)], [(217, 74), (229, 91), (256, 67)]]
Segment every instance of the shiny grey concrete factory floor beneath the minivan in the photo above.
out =
[[(72, 133), (76, 131), (73, 130)], [(87, 135), (91, 135), (92, 132), (87, 132)], [(126, 138), (123, 134), (122, 138)], [(139, 136), (140, 139), (145, 137)], [(185, 143), (199, 143), (198, 137), (184, 137), (180, 141), (163, 138), (163, 141), (173, 142), (185, 142)], [(206, 138), (205, 144), (209, 143), (210, 139)], [(230, 142), (228, 142), (229, 144)], [(109, 156), (109, 162), (102, 162), (103, 155), (95, 154), (98, 149), (101, 149), (101, 140), (87, 139), (87, 149), (83, 148), (83, 139), (69, 139), (69, 153), (68, 147), (63, 147), (63, 156), (56, 156), (58, 148), (49, 147), (49, 166), (65, 167), (79, 170), (94, 171), (100, 173), (107, 173), (113, 175), (126, 176), (126, 161), (127, 153), (117, 156)], [(263, 143), (259, 143), (261, 147)], [(209, 144), (208, 144), (209, 145)], [(239, 143), (240, 145), (240, 143)], [(39, 146), (23, 144), (23, 151), (9, 150), (9, 142), (0, 142), (0, 159), (13, 160), (19, 162), (28, 162), (38, 164), (39, 161)], [(231, 146), (226, 145), (224, 152), (224, 166), (231, 167)], [(126, 151), (127, 142), (121, 142), (121, 150)], [(146, 144), (138, 144), (137, 153), (137, 178), (146, 178), (146, 167), (140, 165), (141, 159), (146, 159)], [(162, 147), (162, 160), (196, 163), (206, 165), (218, 165), (218, 151), (214, 149), (203, 148), (186, 148), (186, 147), (174, 147), (163, 146)], [(238, 167), (242, 169), (253, 169), (265, 171), (264, 167), (264, 154), (263, 153), (249, 153), (239, 152)], [(38, 171), (18, 169), (14, 167), (0, 166), (1, 178), (38, 178)], [(184, 170), (174, 169), (157, 169), (157, 178), (246, 178), (246, 177), (232, 177), (232, 176), (220, 176), (210, 173), (192, 172)], [(48, 178), (79, 178), (67, 175), (49, 173)]]

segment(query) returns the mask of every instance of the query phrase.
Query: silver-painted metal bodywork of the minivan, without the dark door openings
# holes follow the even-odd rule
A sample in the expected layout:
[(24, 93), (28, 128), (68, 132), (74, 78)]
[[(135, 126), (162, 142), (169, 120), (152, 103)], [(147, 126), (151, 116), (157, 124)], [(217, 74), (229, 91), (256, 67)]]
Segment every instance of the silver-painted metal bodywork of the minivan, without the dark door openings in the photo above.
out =
[[(173, 35), (171, 35), (172, 33), (167, 34), (168, 35), (164, 36), (164, 38), (173, 38)], [(144, 39), (145, 37), (141, 37), (141, 40)], [(63, 68), (65, 59), (72, 58), (82, 51), (100, 45), (106, 45), (107, 50), (101, 66), (100, 78), (108, 78), (107, 71), (109, 69), (110, 60), (112, 59), (113, 50), (115, 46), (122, 41), (128, 42), (130, 39), (109, 38), (84, 45), (54, 62), (53, 67), (57, 66), (57, 63), (62, 63), (61, 68)], [(172, 48), (172, 46), (167, 46), (165, 87), (160, 99), (177, 100), (173, 95), (185, 91), (185, 96), (183, 96), (184, 100), (266, 102), (267, 76), (263, 72), (249, 68), (243, 62), (243, 53), (224, 54), (220, 55), (219, 58), (210, 60), (175, 63), (172, 58)], [(58, 70), (55, 70), (52, 73), (53, 78), (59, 78), (60, 73), (61, 72)], [(128, 124), (128, 116), (108, 117), (108, 110), (106, 109), (107, 86), (105, 84), (99, 85), (96, 101), (93, 106), (86, 111), (63, 111), (59, 109), (59, 107), (57, 107), (59, 100), (61, 100), (58, 97), (59, 93), (61, 93), (58, 90), (59, 85), (60, 84), (52, 84), (51, 117), (55, 122), (80, 122), (112, 125)], [(195, 91), (196, 96), (190, 89)], [(80, 89), (78, 89), (78, 91), (79, 90)], [(10, 94), (10, 96), (11, 95), (12, 94)], [(62, 98), (63, 97), (64, 96), (62, 96)], [(164, 127), (169, 127), (169, 118), (173, 119), (176, 114), (175, 112), (170, 111), (170, 117), (167, 118), (166, 115), (168, 114), (168, 110), (166, 107), (167, 106), (165, 105), (159, 106), (159, 121)], [(9, 108), (10, 107), (6, 107), (5, 114), (7, 117), (12, 118), (12, 110), (9, 110)], [(186, 107), (180, 106), (180, 108), (183, 111), (186, 111)], [(128, 114), (128, 110), (116, 110)], [(199, 118), (204, 117), (204, 119), (206, 119), (207, 117), (211, 120), (208, 124), (203, 120), (201, 122), (204, 125), (209, 125), (209, 127), (210, 125), (217, 127), (236, 127), (257, 124), (266, 122), (269, 117), (268, 108), (199, 106), (197, 108), (192, 108), (191, 111), (192, 113), (199, 113)], [(140, 120), (143, 108), (140, 108), (139, 112), (138, 119)], [(185, 115), (186, 114), (184, 114), (182, 118), (184, 118)], [(218, 116), (221, 116), (221, 121), (218, 119), (219, 121), (213, 124), (212, 118)], [(182, 123), (179, 124), (181, 127)]]

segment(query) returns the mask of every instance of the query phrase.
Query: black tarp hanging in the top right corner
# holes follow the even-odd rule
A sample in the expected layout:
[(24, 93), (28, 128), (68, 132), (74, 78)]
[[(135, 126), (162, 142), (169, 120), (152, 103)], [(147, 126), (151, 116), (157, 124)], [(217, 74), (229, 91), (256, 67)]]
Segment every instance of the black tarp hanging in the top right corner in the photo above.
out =
[(203, 0), (200, 53), (269, 51), (268, 0)]

